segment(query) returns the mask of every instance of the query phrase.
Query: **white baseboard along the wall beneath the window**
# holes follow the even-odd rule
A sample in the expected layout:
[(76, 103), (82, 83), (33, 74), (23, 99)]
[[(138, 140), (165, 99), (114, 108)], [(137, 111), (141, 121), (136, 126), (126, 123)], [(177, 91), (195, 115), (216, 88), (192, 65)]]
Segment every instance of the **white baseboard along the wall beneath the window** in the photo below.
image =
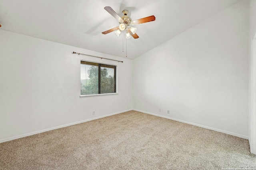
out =
[(116, 113), (107, 114), (107, 115), (104, 115), (104, 116), (99, 116), (99, 117), (95, 117), (95, 118), (81, 120), (81, 121), (78, 121), (78, 122), (64, 124), (64, 125), (56, 126), (56, 127), (53, 127), (53, 128), (38, 130), (36, 132), (30, 132), (30, 133), (26, 133), (26, 134), (22, 134), (22, 135), (18, 135), (18, 136), (13, 136), (13, 137), (10, 137), (10, 138), (4, 138), (4, 139), (0, 140), (0, 143), (7, 142), (7, 141), (10, 141), (10, 140), (14, 140), (14, 139), (18, 139), (18, 138), (23, 138), (23, 137), (26, 137), (26, 136), (31, 136), (31, 135), (34, 135), (34, 134), (39, 134), (39, 133), (42, 133), (42, 132), (47, 132), (47, 131), (54, 130), (54, 129), (64, 128), (64, 127), (67, 127), (67, 126), (72, 126), (72, 125), (75, 125), (75, 124), (80, 124), (80, 123), (88, 122), (88, 121), (91, 121), (91, 120), (96, 120), (96, 119), (99, 119), (99, 118), (104, 118), (104, 117), (112, 116), (112, 115), (115, 115), (115, 114), (120, 114), (120, 113), (123, 113), (123, 112), (128, 112), (130, 110), (133, 110), (133, 109), (123, 110), (121, 112), (116, 112)]

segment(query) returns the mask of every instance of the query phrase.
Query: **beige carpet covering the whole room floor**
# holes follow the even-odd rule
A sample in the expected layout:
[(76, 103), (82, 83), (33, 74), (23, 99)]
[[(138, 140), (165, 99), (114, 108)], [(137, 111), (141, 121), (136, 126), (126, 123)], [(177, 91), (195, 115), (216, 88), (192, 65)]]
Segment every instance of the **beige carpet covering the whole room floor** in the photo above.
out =
[(136, 111), (0, 144), (0, 170), (222, 170), (252, 165), (255, 155), (248, 140)]

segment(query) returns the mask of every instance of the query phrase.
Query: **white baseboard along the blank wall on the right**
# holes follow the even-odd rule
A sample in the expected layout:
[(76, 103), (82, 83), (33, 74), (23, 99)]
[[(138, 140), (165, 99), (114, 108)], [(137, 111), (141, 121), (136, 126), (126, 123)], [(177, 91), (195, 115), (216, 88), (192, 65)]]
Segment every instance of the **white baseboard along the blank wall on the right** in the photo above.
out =
[(179, 120), (179, 119), (175, 119), (175, 118), (170, 118), (170, 117), (162, 116), (162, 115), (159, 115), (159, 114), (153, 114), (153, 113), (149, 113), (149, 112), (144, 112), (144, 111), (137, 110), (137, 109), (133, 109), (133, 110), (138, 111), (138, 112), (142, 112), (142, 113), (146, 113), (146, 114), (151, 114), (151, 115), (158, 116), (158, 117), (161, 117), (161, 118), (167, 118), (167, 119), (170, 119), (170, 120), (175, 120), (175, 121), (177, 121), (177, 122), (182, 122), (182, 123), (186, 123), (186, 124), (191, 124), (191, 125), (198, 126), (198, 127), (201, 127), (201, 128), (206, 128), (206, 129), (214, 130), (214, 131), (217, 131), (217, 132), (222, 132), (222, 133), (224, 133), (224, 134), (230, 134), (230, 135), (232, 135), (232, 136), (237, 136), (237, 137), (239, 137), (239, 138), (244, 138), (244, 139), (247, 139), (247, 140), (248, 140), (248, 136), (245, 136), (245, 135), (242, 135), (242, 134), (236, 134), (236, 133), (233, 133), (233, 132), (228, 132), (228, 131), (226, 131), (226, 130), (221, 130), (221, 129), (212, 128), (212, 127), (209, 127), (209, 126), (204, 126), (204, 125), (201, 125), (201, 124), (196, 124), (196, 123), (187, 122), (187, 121), (184, 121), (184, 120)]

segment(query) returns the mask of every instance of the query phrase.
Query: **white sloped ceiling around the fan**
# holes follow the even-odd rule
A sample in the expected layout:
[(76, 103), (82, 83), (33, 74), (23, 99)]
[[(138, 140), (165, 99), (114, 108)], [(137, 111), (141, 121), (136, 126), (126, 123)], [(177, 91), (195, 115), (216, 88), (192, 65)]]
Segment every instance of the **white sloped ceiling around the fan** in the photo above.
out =
[(134, 26), (140, 38), (127, 39), (133, 59), (238, 1), (0, 0), (0, 29), (125, 58), (126, 38), (101, 33), (119, 25), (104, 7), (120, 16), (126, 9), (132, 20), (154, 15), (154, 22)]

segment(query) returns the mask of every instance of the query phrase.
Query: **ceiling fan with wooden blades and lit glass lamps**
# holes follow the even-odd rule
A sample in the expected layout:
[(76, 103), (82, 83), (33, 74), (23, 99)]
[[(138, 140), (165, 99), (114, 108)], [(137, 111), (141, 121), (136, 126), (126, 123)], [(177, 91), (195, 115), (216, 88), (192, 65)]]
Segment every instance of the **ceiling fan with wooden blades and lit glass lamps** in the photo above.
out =
[(131, 26), (156, 20), (156, 17), (154, 15), (152, 15), (152, 16), (148, 16), (145, 18), (140, 18), (138, 20), (132, 21), (132, 19), (127, 16), (128, 10), (123, 10), (122, 14), (124, 16), (120, 17), (110, 6), (106, 6), (104, 9), (108, 13), (110, 13), (112, 16), (114, 16), (114, 18), (116, 18), (116, 20), (118, 20), (119, 26), (117, 26), (115, 28), (111, 28), (110, 30), (106, 30), (106, 31), (102, 32), (102, 34), (108, 34), (110, 32), (115, 31), (116, 35), (119, 36), (122, 31), (126, 30), (126, 38), (130, 38), (132, 36), (133, 38), (136, 39), (136, 38), (139, 38), (139, 36), (136, 34), (137, 28), (134, 28)]

